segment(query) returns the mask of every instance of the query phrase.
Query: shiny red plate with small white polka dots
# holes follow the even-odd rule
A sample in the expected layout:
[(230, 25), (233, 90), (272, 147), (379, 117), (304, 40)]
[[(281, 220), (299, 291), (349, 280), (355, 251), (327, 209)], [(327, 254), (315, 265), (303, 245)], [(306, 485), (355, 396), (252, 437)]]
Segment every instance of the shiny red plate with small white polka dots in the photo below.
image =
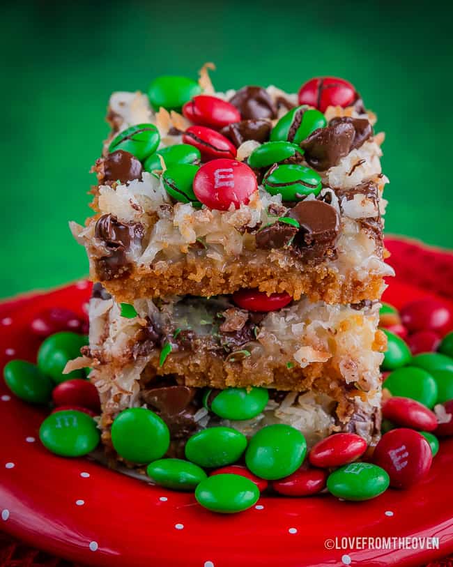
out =
[[(387, 247), (399, 269), (387, 301), (401, 306), (426, 296), (427, 287), (453, 298), (452, 255), (397, 240)], [(415, 287), (420, 281), (425, 289)], [(88, 296), (81, 282), (0, 305), (1, 364), (33, 360), (38, 341), (26, 331), (33, 315), (54, 305), (81, 311)], [(192, 494), (48, 453), (38, 439), (44, 415), (10, 396), (1, 381), (0, 529), (58, 557), (109, 567), (371, 567), (420, 566), (453, 552), (453, 439), (440, 444), (429, 478), (410, 490), (362, 503), (327, 494), (262, 497), (244, 513), (214, 515)], [(427, 549), (423, 539), (397, 539), (390, 550), (341, 539), (433, 536), (439, 549)]]

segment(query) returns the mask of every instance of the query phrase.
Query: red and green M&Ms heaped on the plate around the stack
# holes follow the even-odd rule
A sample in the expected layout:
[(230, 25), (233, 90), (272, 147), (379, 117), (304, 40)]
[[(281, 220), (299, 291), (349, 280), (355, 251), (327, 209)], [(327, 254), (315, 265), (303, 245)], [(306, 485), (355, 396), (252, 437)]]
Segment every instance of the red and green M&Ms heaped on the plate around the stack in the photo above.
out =
[[(339, 432), (307, 451), (305, 437), (290, 425), (267, 425), (250, 439), (215, 426), (190, 436), (185, 458), (165, 458), (169, 428), (153, 411), (135, 407), (114, 421), (116, 451), (146, 462), (154, 483), (194, 491), (201, 506), (220, 513), (253, 506), (261, 492), (291, 497), (330, 492), (361, 501), (388, 487), (407, 489), (429, 474), (438, 438), (453, 435), (453, 314), (429, 298), (399, 312), (384, 303), (380, 325), (388, 346), (382, 364), (382, 437), (376, 446), (367, 446), (358, 434)], [(65, 457), (87, 455), (100, 442), (98, 391), (84, 370), (63, 374), (87, 344), (86, 322), (70, 310), (52, 309), (33, 319), (30, 333), (43, 338), (37, 363), (8, 362), (6, 384), (18, 398), (49, 409), (40, 427), (45, 448)], [(206, 388), (204, 405), (238, 421), (266, 404), (261, 391), (247, 395), (229, 388), (212, 401), (210, 392)]]

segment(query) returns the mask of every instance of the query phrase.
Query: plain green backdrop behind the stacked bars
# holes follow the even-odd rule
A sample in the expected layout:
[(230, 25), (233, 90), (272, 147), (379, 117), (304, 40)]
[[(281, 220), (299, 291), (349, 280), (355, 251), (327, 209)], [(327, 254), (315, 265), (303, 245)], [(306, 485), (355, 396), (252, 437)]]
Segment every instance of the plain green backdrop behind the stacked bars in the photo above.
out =
[(0, 49), (3, 274), (0, 296), (87, 271), (68, 220), (83, 222), (89, 169), (107, 135), (115, 90), (156, 75), (197, 76), (214, 61), (217, 89), (315, 75), (357, 87), (385, 130), (387, 232), (453, 246), (452, 12), (445, 4), (111, 1), (8, 3)]

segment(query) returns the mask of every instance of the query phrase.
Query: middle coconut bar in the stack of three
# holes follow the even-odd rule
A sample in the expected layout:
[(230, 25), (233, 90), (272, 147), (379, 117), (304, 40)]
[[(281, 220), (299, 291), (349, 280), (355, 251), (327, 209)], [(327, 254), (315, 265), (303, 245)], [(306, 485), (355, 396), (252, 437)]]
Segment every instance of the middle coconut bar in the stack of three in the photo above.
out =
[(342, 426), (360, 411), (372, 413), (385, 349), (378, 302), (328, 305), (302, 298), (266, 313), (241, 309), (235, 300), (137, 300), (134, 311), (95, 285), (85, 354), (105, 417), (140, 405), (144, 390), (166, 381), (325, 394)]

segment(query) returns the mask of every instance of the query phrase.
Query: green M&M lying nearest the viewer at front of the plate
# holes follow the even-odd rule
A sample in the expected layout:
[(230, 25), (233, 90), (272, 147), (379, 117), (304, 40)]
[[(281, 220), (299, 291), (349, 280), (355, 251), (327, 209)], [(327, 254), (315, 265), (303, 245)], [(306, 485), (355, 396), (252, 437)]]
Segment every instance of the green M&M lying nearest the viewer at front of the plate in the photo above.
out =
[(238, 474), (216, 474), (201, 481), (195, 498), (212, 512), (231, 514), (250, 508), (259, 499), (255, 483)]

